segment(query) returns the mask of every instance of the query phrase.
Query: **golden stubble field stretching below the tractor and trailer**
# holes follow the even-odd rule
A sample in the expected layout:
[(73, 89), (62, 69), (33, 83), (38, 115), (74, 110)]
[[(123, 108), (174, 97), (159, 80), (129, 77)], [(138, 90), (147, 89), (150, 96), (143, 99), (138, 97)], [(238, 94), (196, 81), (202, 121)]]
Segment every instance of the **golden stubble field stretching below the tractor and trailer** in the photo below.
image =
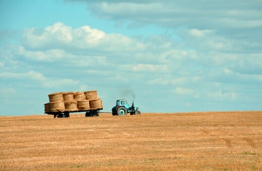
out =
[(0, 170), (261, 170), (262, 111), (0, 117)]

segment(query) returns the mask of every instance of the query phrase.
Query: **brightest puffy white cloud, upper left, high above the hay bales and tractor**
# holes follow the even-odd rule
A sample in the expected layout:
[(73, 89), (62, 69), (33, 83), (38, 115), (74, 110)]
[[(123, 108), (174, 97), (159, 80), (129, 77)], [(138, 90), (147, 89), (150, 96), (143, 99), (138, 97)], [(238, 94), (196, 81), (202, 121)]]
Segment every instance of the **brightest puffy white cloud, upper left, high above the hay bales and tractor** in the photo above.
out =
[(55, 23), (45, 29), (27, 29), (23, 32), (22, 45), (29, 50), (51, 50), (79, 53), (100, 51), (126, 52), (141, 50), (144, 45), (121, 34), (106, 34), (90, 26), (72, 29), (62, 23)]

